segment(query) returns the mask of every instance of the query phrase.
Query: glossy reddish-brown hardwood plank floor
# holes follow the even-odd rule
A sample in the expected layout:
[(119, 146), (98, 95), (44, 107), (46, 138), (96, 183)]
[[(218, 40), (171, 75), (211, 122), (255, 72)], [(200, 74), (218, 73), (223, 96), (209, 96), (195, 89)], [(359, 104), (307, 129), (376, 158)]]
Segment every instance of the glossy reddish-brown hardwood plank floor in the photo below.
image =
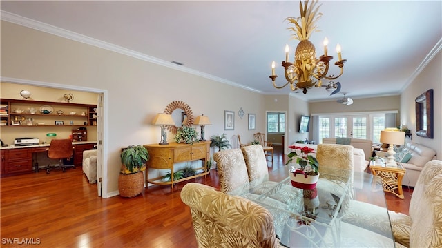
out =
[[(284, 162), (280, 147), (275, 148), (270, 174)], [(135, 198), (99, 198), (81, 167), (1, 178), (0, 246), (197, 247), (189, 207), (180, 199), (189, 182), (219, 188), (215, 169), (207, 178), (178, 183), (173, 190), (148, 187)], [(401, 200), (387, 193), (389, 209), (408, 214), (412, 190), (404, 188), (404, 194)], [(18, 240), (6, 244), (10, 238)], [(35, 245), (23, 245), (23, 238)]]

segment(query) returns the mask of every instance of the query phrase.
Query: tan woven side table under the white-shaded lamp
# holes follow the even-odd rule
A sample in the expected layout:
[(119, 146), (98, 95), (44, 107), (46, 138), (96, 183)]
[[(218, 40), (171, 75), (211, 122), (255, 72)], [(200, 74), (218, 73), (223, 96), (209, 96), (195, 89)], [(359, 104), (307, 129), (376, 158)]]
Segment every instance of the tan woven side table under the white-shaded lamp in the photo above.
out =
[[(372, 174), (382, 179), (382, 187), (385, 192), (390, 192), (403, 199), (402, 178), (405, 175), (405, 168), (398, 164), (398, 167), (382, 167), (370, 165)], [(397, 189), (397, 193), (396, 193)]]

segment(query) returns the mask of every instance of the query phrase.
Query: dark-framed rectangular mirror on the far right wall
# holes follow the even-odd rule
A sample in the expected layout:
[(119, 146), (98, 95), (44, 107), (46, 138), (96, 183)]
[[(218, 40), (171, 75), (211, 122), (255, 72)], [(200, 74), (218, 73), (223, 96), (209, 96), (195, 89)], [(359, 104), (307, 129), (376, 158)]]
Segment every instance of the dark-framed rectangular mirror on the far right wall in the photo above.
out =
[(416, 135), (433, 138), (433, 89), (416, 97)]

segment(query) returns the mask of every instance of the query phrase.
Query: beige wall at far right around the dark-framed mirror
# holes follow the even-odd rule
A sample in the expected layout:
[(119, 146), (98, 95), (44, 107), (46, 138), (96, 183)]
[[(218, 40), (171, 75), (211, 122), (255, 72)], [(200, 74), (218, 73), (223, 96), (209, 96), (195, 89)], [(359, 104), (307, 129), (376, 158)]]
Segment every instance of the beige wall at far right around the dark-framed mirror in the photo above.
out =
[[(412, 131), (413, 141), (436, 150), (438, 159), (442, 159), (442, 52), (416, 76), (416, 79), (401, 94), (401, 123)], [(434, 138), (416, 135), (415, 99), (423, 92), (433, 89), (434, 98)]]

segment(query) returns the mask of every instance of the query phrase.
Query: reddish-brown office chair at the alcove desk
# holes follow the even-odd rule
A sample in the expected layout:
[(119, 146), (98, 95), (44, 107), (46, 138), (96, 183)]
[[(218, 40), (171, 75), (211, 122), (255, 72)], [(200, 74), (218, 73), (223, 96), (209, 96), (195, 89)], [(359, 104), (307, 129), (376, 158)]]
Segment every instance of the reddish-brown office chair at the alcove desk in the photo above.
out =
[[(63, 169), (63, 172), (66, 172), (66, 167), (73, 167), (75, 169), (75, 165), (64, 165), (64, 160), (71, 160), (74, 154), (74, 147), (72, 145), (72, 141), (70, 139), (54, 139), (50, 141), (49, 148), (46, 149), (48, 152), (48, 158), (58, 159), (59, 167)], [(50, 170), (54, 167), (46, 167), (46, 173), (50, 173)]]

